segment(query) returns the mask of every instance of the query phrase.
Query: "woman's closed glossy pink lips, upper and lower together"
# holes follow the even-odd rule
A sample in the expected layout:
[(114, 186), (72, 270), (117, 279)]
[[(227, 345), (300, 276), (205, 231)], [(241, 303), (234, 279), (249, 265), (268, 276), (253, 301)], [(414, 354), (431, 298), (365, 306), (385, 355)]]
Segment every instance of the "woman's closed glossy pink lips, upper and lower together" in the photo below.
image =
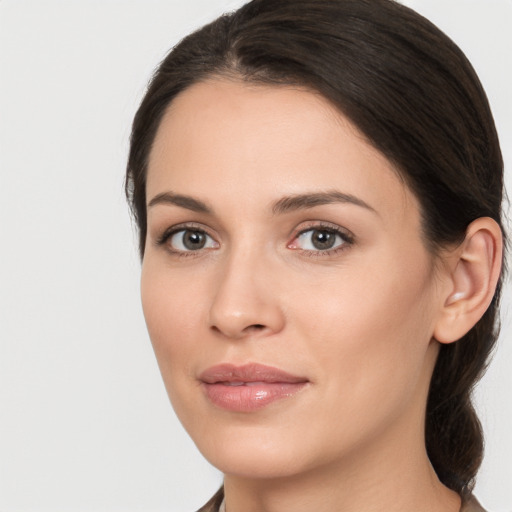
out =
[(290, 398), (309, 382), (272, 366), (219, 364), (199, 376), (207, 398), (228, 411), (251, 412)]

